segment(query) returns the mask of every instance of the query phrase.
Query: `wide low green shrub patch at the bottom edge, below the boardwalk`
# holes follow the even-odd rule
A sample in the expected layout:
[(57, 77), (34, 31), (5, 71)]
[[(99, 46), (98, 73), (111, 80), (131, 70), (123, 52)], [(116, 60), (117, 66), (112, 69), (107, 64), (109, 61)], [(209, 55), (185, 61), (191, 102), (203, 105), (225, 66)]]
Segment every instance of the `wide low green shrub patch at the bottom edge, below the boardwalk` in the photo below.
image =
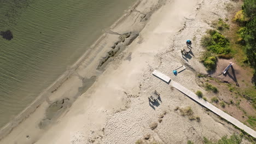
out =
[(218, 140), (217, 142), (212, 142), (208, 140), (206, 137), (203, 137), (203, 143), (205, 144), (240, 144), (242, 142), (242, 136), (240, 135), (231, 135), (228, 139), (228, 136), (223, 136), (222, 139)]

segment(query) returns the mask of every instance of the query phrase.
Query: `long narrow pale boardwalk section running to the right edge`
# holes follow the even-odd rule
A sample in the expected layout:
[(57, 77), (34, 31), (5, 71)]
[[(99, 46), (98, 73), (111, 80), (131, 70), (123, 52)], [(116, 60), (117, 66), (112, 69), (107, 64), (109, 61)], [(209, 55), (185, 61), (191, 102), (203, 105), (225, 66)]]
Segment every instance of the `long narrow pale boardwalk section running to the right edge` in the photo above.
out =
[(195, 100), (197, 103), (205, 106), (207, 109), (209, 109), (212, 112), (216, 113), (220, 117), (226, 119), (226, 121), (229, 121), (230, 123), (236, 125), (236, 127), (244, 130), (247, 134), (249, 134), (249, 135), (251, 135), (253, 137), (256, 137), (256, 132), (253, 129), (247, 127), (245, 124), (241, 123), (240, 121), (238, 121), (234, 117), (231, 117), (230, 115), (228, 115), (224, 111), (218, 109), (216, 106), (208, 103), (208, 101), (205, 101), (202, 98), (197, 97), (197, 95), (195, 93), (189, 91), (189, 89), (183, 87), (182, 85), (179, 85), (179, 83), (174, 82), (172, 80), (170, 82), (170, 85), (173, 86), (174, 88), (178, 89), (179, 91), (181, 91), (185, 95), (187, 95), (189, 98)]

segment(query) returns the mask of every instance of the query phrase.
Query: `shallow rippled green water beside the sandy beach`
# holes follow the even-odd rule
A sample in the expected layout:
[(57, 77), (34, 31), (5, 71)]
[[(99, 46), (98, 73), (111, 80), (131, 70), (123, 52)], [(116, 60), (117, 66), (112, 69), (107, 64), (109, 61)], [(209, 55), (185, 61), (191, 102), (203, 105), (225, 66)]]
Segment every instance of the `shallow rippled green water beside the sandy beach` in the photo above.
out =
[(135, 0), (0, 0), (0, 127), (83, 55)]

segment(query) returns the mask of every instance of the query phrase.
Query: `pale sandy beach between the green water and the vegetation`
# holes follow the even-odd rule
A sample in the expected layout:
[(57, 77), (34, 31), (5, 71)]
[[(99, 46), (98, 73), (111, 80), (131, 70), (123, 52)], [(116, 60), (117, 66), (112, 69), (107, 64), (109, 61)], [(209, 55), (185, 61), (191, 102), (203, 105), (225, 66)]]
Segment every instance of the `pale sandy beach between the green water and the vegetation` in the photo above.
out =
[[(152, 75), (157, 69), (190, 91), (206, 93), (200, 39), (211, 21), (225, 19), (229, 0), (141, 0), (125, 11), (78, 61), (68, 78), (49, 89), (20, 120), (0, 131), (0, 143), (202, 143), (240, 131)], [(193, 55), (181, 47), (193, 39)], [(177, 76), (172, 70), (185, 65)], [(160, 93), (158, 105), (148, 96)], [(200, 122), (181, 116), (190, 106)], [(159, 120), (161, 119), (161, 120)], [(161, 122), (160, 122), (161, 121)], [(158, 123), (152, 130), (150, 125)], [(243, 140), (243, 143), (249, 143)]]

